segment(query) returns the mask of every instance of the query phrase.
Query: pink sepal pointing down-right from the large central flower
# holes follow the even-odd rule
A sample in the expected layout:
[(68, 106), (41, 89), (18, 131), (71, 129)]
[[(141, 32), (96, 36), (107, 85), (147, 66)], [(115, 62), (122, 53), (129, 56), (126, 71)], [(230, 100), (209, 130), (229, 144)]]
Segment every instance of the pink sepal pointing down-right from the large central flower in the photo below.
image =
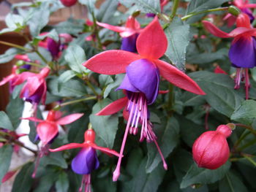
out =
[(173, 85), (176, 85), (179, 88), (183, 88), (186, 91), (198, 94), (198, 95), (205, 95), (202, 89), (197, 85), (197, 83), (192, 80), (187, 74), (178, 70), (175, 66), (167, 64), (165, 61), (156, 60), (155, 64), (159, 69), (160, 74), (162, 77)]

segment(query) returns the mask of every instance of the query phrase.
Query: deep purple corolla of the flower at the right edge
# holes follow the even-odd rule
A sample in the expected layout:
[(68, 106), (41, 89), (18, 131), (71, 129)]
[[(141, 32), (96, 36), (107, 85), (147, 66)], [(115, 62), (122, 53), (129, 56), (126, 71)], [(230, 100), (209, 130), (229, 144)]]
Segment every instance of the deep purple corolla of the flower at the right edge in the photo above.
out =
[(229, 52), (233, 66), (238, 68), (253, 68), (256, 64), (254, 37), (238, 37), (234, 39)]

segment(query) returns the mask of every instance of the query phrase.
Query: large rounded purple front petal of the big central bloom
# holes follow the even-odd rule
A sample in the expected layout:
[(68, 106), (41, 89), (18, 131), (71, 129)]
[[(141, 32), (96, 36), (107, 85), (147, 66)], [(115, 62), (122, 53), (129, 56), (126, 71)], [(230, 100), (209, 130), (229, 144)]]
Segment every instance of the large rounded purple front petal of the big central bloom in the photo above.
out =
[(158, 95), (159, 70), (145, 58), (133, 61), (127, 66), (129, 82), (144, 93), (148, 104), (152, 104)]

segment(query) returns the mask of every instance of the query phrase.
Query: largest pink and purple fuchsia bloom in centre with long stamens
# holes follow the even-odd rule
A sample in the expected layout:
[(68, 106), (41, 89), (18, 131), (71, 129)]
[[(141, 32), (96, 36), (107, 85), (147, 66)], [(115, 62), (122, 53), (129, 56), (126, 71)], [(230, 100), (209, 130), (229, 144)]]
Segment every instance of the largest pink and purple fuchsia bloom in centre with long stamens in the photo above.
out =
[[(192, 93), (205, 94), (187, 74), (158, 59), (167, 49), (167, 38), (157, 17), (140, 32), (136, 47), (139, 55), (124, 50), (107, 50), (94, 55), (94, 57), (83, 64), (83, 66), (91, 69), (91, 71), (100, 74), (127, 72), (118, 88), (124, 89), (127, 97), (114, 101), (98, 113), (98, 115), (111, 115), (121, 110), (125, 105), (127, 105), (126, 111), (129, 113), (127, 128), (120, 150), (121, 155), (118, 158), (118, 164), (113, 173), (114, 181), (118, 179), (120, 174), (121, 158), (128, 131), (132, 134), (137, 134), (138, 123), (140, 123), (142, 125), (140, 141), (146, 138), (148, 142), (154, 142), (157, 145), (157, 137), (149, 121), (148, 104), (152, 104), (157, 99), (159, 74), (162, 74), (166, 80), (179, 88), (184, 88)], [(157, 149), (159, 150), (158, 145)], [(162, 156), (164, 167), (167, 169), (167, 164), (161, 150), (159, 150), (159, 153)]]

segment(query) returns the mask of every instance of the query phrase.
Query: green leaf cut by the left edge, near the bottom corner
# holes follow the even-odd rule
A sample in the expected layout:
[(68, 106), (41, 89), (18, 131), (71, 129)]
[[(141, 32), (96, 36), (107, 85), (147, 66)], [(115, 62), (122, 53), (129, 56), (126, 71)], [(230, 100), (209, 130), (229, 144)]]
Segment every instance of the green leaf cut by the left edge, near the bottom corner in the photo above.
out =
[(8, 172), (12, 160), (12, 145), (0, 147), (0, 184), (4, 175)]

